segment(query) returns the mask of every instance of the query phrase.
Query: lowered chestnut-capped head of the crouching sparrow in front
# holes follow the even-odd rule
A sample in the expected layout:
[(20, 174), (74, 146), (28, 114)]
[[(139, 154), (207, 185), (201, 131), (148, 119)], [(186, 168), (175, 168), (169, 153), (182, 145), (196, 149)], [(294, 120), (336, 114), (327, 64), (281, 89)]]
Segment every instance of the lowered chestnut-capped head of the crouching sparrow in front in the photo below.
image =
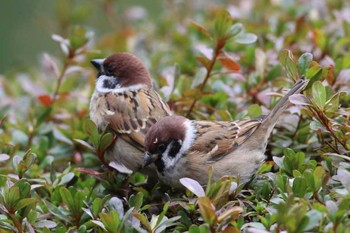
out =
[(162, 118), (146, 134), (144, 166), (154, 162), (158, 172), (174, 167), (191, 147), (194, 138), (194, 126), (187, 118)]

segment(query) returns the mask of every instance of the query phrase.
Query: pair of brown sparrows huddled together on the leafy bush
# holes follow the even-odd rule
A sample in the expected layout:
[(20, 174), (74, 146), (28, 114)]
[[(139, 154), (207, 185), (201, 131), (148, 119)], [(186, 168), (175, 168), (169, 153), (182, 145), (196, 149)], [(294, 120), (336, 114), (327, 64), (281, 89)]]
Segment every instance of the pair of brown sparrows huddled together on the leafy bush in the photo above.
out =
[[(263, 163), (268, 138), (288, 107), (288, 98), (301, 92), (300, 79), (267, 116), (239, 121), (189, 120), (173, 115), (152, 86), (143, 62), (129, 53), (91, 61), (97, 68), (90, 118), (99, 129), (117, 136), (107, 159), (179, 186), (189, 177), (200, 184), (229, 175), (247, 182)], [(146, 168), (144, 166), (148, 165)]]

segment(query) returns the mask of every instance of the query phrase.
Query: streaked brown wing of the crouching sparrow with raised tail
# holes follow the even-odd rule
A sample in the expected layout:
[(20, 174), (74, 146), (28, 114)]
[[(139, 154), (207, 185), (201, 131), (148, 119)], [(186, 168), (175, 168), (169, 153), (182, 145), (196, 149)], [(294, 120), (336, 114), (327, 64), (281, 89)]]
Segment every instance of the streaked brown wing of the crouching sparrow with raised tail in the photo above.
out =
[(194, 121), (197, 138), (191, 152), (205, 154), (209, 160), (216, 161), (244, 143), (262, 120), (263, 117), (241, 121)]

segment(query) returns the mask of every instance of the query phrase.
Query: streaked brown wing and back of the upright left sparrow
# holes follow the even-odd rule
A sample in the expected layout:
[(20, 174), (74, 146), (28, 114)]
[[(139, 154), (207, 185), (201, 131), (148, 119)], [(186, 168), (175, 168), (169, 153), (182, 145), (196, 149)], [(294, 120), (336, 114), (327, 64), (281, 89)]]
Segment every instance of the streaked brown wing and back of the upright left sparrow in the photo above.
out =
[(106, 94), (108, 127), (143, 152), (147, 130), (161, 117), (171, 115), (168, 105), (152, 88)]

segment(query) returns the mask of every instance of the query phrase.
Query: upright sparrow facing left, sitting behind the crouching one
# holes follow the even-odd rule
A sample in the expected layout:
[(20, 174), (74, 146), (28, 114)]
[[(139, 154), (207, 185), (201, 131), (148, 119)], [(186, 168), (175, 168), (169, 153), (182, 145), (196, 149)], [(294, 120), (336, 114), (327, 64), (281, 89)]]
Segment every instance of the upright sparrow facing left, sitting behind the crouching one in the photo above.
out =
[(90, 101), (90, 119), (100, 132), (107, 130), (117, 137), (105, 158), (138, 171), (143, 164), (146, 132), (160, 118), (171, 115), (171, 111), (154, 90), (146, 66), (136, 56), (116, 53), (91, 63), (98, 74)]

